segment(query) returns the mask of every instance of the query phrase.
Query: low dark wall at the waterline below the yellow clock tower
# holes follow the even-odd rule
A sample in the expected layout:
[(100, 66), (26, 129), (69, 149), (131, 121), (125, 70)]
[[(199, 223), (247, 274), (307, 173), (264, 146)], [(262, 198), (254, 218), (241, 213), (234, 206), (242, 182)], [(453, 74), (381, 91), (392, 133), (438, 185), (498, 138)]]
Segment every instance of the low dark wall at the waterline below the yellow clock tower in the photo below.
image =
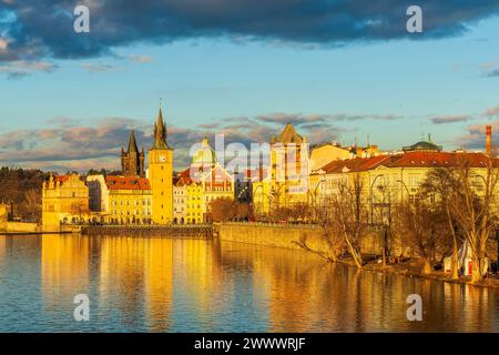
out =
[(213, 229), (210, 224), (200, 225), (85, 225), (83, 235), (140, 236), (211, 240)]

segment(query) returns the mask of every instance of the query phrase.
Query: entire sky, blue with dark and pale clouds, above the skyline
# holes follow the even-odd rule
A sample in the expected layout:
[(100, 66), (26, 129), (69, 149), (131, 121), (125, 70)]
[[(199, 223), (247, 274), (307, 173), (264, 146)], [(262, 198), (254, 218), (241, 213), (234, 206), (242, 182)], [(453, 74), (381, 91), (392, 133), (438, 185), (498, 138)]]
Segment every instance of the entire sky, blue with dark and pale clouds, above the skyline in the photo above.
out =
[(499, 1), (0, 0), (0, 165), (118, 169), (132, 126), (151, 146), (160, 98), (177, 169), (204, 135), (268, 142), (288, 122), (310, 143), (482, 150)]

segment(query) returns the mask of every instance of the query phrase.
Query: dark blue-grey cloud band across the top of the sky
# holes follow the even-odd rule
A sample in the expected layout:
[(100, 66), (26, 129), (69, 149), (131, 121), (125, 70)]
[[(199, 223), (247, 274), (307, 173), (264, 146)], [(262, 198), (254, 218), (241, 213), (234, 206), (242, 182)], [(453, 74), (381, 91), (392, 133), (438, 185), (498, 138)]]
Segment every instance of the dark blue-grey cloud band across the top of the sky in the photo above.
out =
[(411, 1), (100, 0), (84, 1), (91, 32), (75, 33), (73, 1), (3, 3), (0, 21), (9, 45), (0, 61), (91, 58), (133, 43), (214, 37), (302, 48), (441, 38), (459, 36), (499, 10), (497, 1), (419, 0), (425, 32), (409, 37), (405, 26)]

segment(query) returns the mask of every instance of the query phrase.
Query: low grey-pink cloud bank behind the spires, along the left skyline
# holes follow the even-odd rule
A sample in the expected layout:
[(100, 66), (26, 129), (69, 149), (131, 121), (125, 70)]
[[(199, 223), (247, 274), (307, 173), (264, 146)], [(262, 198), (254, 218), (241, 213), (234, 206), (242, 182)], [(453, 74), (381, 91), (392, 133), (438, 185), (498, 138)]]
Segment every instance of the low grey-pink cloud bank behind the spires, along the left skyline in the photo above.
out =
[[(272, 134), (279, 134), (283, 124), (261, 122), (262, 118), (224, 118), (195, 129), (169, 125), (167, 141), (175, 150), (175, 169), (186, 168), (191, 161), (191, 146), (204, 136), (214, 139), (215, 134), (224, 134), (225, 144), (242, 143), (249, 148), (251, 143), (268, 143)], [(285, 113), (279, 115), (287, 115)], [(310, 143), (319, 143), (337, 139), (342, 129), (332, 122), (323, 122), (319, 114), (298, 115), (306, 118), (306, 124), (297, 124), (299, 134)], [(284, 120), (284, 119), (282, 119)], [(37, 168), (44, 170), (88, 171), (93, 169), (119, 169), (120, 152), (126, 149), (130, 126), (135, 126), (135, 135), (140, 146), (147, 149), (153, 143), (153, 120), (151, 124), (125, 118), (104, 118), (90, 122), (57, 116), (47, 122), (44, 129), (22, 129), (0, 133), (0, 162), (7, 165)], [(299, 122), (297, 122), (299, 123)]]

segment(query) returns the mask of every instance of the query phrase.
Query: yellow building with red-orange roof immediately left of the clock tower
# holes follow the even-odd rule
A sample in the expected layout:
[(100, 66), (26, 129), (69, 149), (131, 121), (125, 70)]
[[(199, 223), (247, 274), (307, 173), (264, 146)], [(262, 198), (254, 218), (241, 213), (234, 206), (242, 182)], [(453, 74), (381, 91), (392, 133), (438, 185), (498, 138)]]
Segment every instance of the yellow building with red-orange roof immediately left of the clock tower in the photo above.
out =
[(108, 176), (109, 223), (150, 224), (152, 191), (147, 179)]

